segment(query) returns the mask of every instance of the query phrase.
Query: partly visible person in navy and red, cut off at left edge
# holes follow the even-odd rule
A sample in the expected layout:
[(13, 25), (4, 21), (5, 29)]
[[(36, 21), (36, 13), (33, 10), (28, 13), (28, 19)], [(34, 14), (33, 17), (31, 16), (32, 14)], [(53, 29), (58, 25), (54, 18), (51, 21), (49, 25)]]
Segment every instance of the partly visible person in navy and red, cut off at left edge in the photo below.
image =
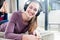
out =
[(7, 11), (7, 3), (5, 0), (0, 0), (0, 25), (8, 21)]

